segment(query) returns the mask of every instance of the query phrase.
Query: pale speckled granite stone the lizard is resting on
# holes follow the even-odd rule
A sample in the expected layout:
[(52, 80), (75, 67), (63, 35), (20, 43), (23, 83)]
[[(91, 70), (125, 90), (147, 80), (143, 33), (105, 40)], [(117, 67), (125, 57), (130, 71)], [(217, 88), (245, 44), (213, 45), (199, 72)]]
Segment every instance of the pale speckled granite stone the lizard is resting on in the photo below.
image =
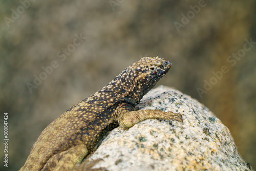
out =
[(250, 170), (227, 127), (203, 104), (159, 86), (139, 109), (160, 109), (183, 116), (184, 123), (148, 119), (130, 129), (114, 129), (90, 159), (107, 170)]

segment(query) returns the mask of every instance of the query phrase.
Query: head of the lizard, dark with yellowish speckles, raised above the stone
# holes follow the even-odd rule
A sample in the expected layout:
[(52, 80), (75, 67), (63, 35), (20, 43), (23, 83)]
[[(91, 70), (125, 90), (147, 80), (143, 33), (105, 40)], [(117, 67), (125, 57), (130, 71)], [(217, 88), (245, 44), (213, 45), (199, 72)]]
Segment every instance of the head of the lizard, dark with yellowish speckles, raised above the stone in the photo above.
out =
[(172, 63), (163, 58), (143, 57), (130, 66), (134, 71), (134, 81), (140, 98), (156, 85), (159, 79), (169, 71), (171, 65)]

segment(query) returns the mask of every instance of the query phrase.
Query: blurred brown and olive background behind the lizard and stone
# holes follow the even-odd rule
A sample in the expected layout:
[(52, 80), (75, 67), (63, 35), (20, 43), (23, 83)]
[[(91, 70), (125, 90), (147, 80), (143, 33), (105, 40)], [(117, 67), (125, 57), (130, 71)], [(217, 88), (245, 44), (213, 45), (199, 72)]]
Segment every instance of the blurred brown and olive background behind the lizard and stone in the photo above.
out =
[(205, 104), (256, 168), (255, 1), (2, 0), (0, 16), (7, 170), (25, 163), (50, 122), (144, 56), (171, 61), (158, 85)]

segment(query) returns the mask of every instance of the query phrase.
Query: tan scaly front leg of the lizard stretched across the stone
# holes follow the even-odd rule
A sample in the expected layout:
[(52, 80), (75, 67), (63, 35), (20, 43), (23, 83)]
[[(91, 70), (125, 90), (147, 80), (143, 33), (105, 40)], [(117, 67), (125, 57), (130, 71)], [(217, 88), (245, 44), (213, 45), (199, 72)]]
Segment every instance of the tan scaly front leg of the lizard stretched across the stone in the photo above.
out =
[(182, 120), (182, 115), (173, 112), (163, 112), (160, 110), (139, 110), (139, 111), (122, 111), (118, 114), (118, 123), (121, 127), (132, 127), (138, 122), (146, 119), (174, 119), (177, 121)]

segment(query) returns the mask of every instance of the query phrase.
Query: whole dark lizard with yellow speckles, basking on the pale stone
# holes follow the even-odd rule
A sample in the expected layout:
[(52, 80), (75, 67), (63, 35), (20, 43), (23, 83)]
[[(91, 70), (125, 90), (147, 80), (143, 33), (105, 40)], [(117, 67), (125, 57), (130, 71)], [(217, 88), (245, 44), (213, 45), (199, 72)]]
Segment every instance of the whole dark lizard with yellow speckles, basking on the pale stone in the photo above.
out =
[(161, 110), (135, 110), (142, 97), (170, 69), (160, 57), (143, 57), (105, 87), (72, 106), (50, 123), (33, 144), (20, 171), (70, 170), (86, 158), (106, 133), (146, 119), (182, 120)]

